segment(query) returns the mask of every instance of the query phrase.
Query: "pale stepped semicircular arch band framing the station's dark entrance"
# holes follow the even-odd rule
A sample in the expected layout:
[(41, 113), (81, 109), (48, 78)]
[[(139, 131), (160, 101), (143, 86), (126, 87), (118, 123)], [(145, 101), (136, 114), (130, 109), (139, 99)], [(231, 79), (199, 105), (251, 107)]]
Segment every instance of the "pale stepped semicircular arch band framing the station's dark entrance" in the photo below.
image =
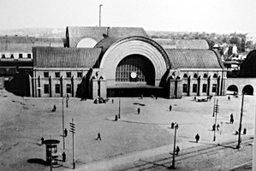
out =
[(140, 55), (148, 58), (155, 69), (155, 85), (159, 85), (160, 80), (170, 68), (170, 59), (161, 45), (151, 38), (128, 37), (122, 38), (112, 44), (104, 53), (100, 62), (100, 68), (104, 69), (104, 74), (108, 80), (108, 85), (115, 84), (116, 67), (126, 56)]

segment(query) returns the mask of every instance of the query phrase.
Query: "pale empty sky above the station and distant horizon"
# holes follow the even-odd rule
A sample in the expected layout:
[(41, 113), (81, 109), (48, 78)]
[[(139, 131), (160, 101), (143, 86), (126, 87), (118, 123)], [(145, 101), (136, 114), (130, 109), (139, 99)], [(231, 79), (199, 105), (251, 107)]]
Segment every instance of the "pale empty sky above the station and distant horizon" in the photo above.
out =
[(0, 30), (96, 27), (101, 9), (102, 27), (256, 32), (255, 0), (0, 0), (0, 7)]

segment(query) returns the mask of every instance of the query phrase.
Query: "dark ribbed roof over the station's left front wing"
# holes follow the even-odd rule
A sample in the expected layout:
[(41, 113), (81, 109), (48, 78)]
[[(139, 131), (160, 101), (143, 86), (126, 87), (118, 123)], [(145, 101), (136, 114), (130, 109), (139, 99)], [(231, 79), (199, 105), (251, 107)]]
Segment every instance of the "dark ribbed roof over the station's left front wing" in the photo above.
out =
[(92, 68), (99, 48), (33, 47), (34, 68)]

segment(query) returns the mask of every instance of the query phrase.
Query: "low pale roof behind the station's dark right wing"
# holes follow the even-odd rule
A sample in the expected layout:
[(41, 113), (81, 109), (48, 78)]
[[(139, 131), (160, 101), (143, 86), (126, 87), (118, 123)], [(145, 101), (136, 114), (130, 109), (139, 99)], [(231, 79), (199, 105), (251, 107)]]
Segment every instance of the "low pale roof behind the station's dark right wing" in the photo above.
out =
[(209, 50), (209, 44), (204, 39), (153, 38), (153, 40), (161, 44), (164, 49)]

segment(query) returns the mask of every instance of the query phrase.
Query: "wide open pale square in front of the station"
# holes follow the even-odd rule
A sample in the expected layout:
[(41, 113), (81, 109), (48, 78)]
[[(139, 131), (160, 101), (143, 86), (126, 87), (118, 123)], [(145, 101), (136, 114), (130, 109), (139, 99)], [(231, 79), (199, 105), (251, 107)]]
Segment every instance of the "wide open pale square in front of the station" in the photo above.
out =
[[(111, 103), (111, 100), (114, 103)], [(0, 170), (49, 170), (45, 166), (45, 145), (40, 139), (58, 139), (58, 152), (63, 152), (64, 125), (74, 118), (76, 124), (75, 164), (76, 170), (111, 170), (116, 165), (128, 164), (151, 156), (168, 154), (173, 149), (174, 130), (171, 122), (177, 122), (176, 144), (182, 150), (200, 147), (204, 144), (222, 144), (237, 139), (235, 130), (239, 127), (241, 97), (217, 97), (220, 106), (217, 123), (220, 131), (213, 141), (211, 127), (214, 99), (197, 103), (193, 97), (158, 100), (151, 97), (122, 97), (121, 120), (118, 115), (119, 98), (108, 103), (94, 104), (92, 100), (80, 101), (70, 97), (68, 108), (62, 110), (63, 98), (16, 97), (1, 90), (0, 95)], [(245, 96), (242, 126), (247, 135), (253, 135), (255, 97)], [(57, 111), (51, 112), (57, 105)], [(172, 104), (172, 111), (169, 106)], [(137, 109), (140, 108), (140, 115)], [(234, 124), (229, 124), (233, 113)], [(95, 140), (98, 132), (102, 140)], [(199, 133), (199, 143), (194, 136)], [(242, 135), (243, 139), (244, 135)], [(59, 161), (54, 170), (72, 168), (72, 136), (65, 138), (67, 162)], [(61, 159), (61, 158), (60, 158)]]

